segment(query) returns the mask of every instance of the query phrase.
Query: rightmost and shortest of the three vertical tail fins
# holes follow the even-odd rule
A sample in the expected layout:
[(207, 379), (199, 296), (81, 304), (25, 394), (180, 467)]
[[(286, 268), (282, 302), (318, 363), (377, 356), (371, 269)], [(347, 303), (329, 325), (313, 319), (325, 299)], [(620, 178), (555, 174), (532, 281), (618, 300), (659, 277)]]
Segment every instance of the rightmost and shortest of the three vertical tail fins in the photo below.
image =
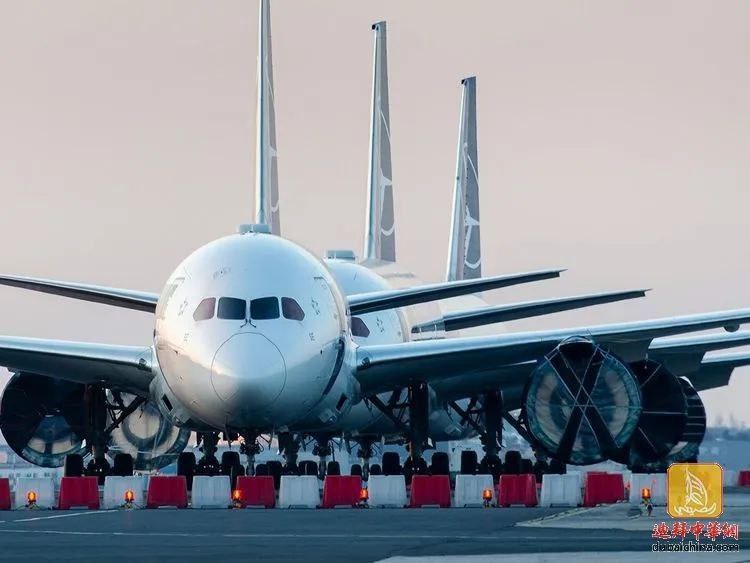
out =
[(448, 243), (448, 281), (482, 277), (479, 240), (479, 163), (477, 160), (476, 77), (461, 81), (461, 117), (456, 154), (453, 219)]

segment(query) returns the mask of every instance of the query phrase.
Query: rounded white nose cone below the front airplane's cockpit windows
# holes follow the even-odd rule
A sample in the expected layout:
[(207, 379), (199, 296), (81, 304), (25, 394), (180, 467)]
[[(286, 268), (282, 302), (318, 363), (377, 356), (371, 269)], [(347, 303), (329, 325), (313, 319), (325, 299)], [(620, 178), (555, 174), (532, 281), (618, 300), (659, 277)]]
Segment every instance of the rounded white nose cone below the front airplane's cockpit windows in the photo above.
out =
[(228, 405), (262, 409), (276, 400), (285, 383), (284, 357), (262, 334), (235, 334), (214, 356), (211, 384)]

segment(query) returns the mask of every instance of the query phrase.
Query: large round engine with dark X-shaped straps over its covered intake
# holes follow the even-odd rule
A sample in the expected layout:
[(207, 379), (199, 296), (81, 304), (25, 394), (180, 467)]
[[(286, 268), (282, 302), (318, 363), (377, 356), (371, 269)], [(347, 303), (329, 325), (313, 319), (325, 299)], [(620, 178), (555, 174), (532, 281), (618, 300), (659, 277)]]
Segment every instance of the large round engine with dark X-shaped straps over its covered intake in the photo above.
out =
[(521, 404), (529, 431), (550, 457), (585, 465), (628, 444), (641, 414), (641, 393), (625, 363), (575, 338), (540, 360)]

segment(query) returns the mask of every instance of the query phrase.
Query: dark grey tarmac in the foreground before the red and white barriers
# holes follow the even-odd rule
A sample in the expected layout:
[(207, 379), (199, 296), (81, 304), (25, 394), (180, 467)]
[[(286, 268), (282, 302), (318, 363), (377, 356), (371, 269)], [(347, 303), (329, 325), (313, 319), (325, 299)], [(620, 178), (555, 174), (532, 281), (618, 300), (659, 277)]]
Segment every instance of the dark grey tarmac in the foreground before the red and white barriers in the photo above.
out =
[[(510, 557), (505, 560), (516, 561), (514, 554), (547, 553), (548, 560), (557, 561), (560, 557), (552, 554), (581, 551), (590, 552), (590, 560), (602, 560), (596, 555), (601, 552), (614, 556), (628, 551), (629, 561), (633, 555), (653, 557), (650, 532), (591, 529), (585, 524), (577, 530), (555, 527), (554, 522), (577, 518), (576, 511), (567, 514), (565, 509), (522, 507), (12, 511), (0, 513), (0, 560), (242, 557), (354, 563), (434, 556), (458, 556), (458, 561), (487, 554), (494, 555), (485, 560), (498, 560), (504, 554)], [(544, 522), (549, 525), (540, 525)]]

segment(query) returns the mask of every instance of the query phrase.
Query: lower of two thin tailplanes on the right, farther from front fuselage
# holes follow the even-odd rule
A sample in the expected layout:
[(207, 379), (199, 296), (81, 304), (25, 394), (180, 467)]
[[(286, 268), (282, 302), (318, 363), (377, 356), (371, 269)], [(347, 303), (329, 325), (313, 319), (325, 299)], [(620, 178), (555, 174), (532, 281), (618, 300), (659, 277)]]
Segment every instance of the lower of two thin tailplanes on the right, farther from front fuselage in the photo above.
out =
[(526, 301), (524, 303), (511, 303), (508, 305), (449, 312), (445, 313), (439, 319), (415, 325), (411, 331), (412, 333), (432, 332), (438, 326), (443, 327), (446, 331), (463, 330), (475, 326), (527, 319), (540, 315), (549, 315), (550, 313), (582, 309), (583, 307), (591, 307), (593, 305), (636, 299), (638, 297), (645, 297), (647, 291), (647, 289), (637, 289), (634, 291), (595, 293), (592, 295)]

